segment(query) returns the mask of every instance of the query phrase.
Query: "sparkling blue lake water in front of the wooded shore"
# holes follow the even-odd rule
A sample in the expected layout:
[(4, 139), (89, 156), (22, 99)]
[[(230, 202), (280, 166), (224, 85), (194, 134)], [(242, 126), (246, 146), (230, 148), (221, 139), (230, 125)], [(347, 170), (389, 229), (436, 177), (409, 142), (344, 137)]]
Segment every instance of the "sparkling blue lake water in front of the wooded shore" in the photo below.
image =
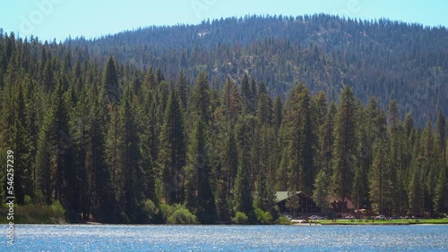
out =
[(14, 227), (0, 251), (448, 251), (448, 225)]

